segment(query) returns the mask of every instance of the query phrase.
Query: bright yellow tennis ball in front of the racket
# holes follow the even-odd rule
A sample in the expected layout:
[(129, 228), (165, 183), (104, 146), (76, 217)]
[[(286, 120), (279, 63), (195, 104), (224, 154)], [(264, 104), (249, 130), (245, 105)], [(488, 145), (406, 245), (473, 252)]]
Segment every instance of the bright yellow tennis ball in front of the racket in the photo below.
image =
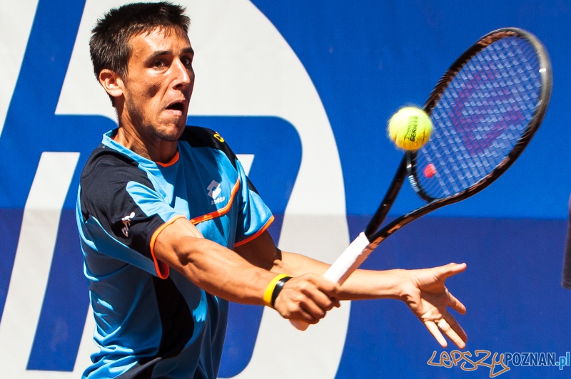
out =
[(388, 121), (388, 135), (403, 150), (418, 150), (428, 142), (433, 123), (426, 112), (417, 107), (400, 108)]

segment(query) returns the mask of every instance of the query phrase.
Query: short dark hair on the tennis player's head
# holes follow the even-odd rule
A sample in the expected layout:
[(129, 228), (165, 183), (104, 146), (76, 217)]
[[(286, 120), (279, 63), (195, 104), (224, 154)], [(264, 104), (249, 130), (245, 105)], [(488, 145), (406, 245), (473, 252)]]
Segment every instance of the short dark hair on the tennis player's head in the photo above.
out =
[(191, 21), (184, 11), (183, 6), (166, 1), (126, 4), (108, 11), (98, 19), (89, 40), (96, 78), (104, 68), (125, 78), (131, 57), (129, 41), (133, 36), (150, 33), (156, 28), (173, 28), (175, 33), (186, 35)]

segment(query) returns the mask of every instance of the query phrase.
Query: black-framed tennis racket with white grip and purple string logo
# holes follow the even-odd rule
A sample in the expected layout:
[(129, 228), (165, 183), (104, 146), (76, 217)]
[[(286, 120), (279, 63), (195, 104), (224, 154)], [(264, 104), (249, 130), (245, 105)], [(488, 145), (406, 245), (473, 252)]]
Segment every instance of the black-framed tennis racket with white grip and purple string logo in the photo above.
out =
[[(492, 184), (539, 128), (551, 88), (547, 51), (527, 31), (501, 28), (468, 48), (426, 100), (424, 110), (433, 122), (430, 140), (420, 150), (405, 153), (365, 231), (335, 260), (325, 278), (343, 284), (398, 229)], [(407, 176), (426, 203), (379, 229)], [(298, 321), (293, 325), (308, 327)]]

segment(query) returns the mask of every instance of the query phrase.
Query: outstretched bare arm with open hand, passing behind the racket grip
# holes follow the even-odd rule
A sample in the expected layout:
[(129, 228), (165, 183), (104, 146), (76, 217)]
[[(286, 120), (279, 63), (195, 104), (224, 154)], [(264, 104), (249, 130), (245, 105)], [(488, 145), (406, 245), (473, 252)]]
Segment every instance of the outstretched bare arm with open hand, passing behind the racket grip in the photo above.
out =
[[(279, 251), (268, 232), (239, 246), (236, 251), (253, 264), (266, 265), (266, 268), (276, 273), (283, 272), (292, 276), (308, 272), (323, 275), (329, 267), (328, 264), (307, 256)], [(270, 265), (268, 262), (272, 259), (273, 264)], [(420, 270), (357, 270), (340, 287), (338, 298), (398, 298), (407, 304), (441, 346), (448, 346), (444, 333), (459, 348), (465, 348), (468, 337), (448, 312), (448, 307), (461, 314), (465, 313), (466, 308), (445, 286), (446, 279), (465, 269), (465, 264), (451, 263)], [(286, 293), (288, 287), (286, 283), (282, 292)], [(281, 295), (276, 299), (276, 304), (278, 301), (281, 301)]]

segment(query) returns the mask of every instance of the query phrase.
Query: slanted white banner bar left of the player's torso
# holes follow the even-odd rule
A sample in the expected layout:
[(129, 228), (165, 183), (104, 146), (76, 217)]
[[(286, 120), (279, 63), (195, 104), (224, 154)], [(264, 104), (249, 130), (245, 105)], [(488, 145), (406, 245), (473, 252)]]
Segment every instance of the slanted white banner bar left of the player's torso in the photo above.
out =
[[(63, 373), (26, 370), (54, 255), (61, 209), (79, 152), (44, 152), (24, 207), (18, 248), (0, 320), (0, 367), (6, 378), (64, 378)], [(93, 334), (94, 323), (86, 323)], [(84, 335), (86, 332), (84, 332)], [(82, 341), (83, 343), (83, 341)], [(91, 343), (91, 351), (94, 343)], [(80, 346), (80, 351), (89, 346)], [(89, 352), (90, 353), (90, 352)], [(81, 360), (75, 378), (85, 367)]]

